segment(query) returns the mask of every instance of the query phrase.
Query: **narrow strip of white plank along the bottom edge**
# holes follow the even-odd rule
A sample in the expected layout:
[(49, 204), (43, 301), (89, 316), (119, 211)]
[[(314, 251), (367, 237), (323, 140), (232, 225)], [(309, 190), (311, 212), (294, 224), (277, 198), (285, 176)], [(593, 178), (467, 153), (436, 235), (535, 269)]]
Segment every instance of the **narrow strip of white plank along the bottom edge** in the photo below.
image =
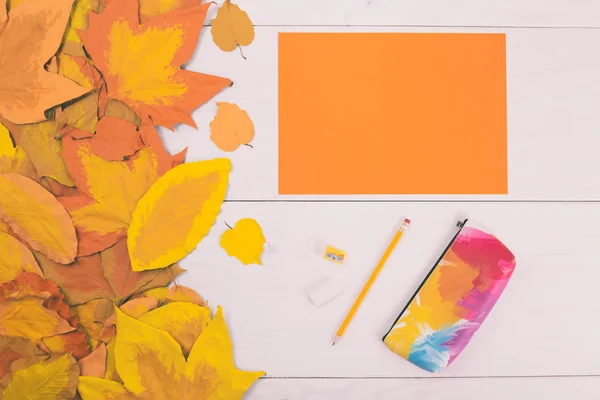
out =
[(592, 400), (600, 377), (482, 379), (262, 379), (247, 400)]

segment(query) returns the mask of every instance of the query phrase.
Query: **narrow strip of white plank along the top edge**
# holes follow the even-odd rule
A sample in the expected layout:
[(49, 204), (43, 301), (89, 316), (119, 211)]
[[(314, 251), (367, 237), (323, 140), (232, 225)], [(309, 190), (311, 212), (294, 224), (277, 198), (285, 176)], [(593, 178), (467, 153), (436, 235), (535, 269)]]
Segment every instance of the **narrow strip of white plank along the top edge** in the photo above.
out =
[(600, 26), (600, 4), (595, 0), (244, 0), (239, 3), (257, 25)]

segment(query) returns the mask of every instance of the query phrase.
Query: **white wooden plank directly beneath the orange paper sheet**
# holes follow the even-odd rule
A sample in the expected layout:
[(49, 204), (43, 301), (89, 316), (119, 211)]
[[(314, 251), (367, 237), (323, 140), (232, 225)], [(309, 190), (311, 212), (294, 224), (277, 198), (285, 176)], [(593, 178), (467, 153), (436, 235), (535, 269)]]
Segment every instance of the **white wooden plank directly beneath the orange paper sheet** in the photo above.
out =
[[(500, 3), (498, 3), (500, 4)], [(188, 68), (221, 74), (234, 86), (202, 106), (193, 117), (199, 131), (180, 126), (162, 131), (171, 151), (189, 146), (188, 161), (230, 157), (234, 164), (230, 200), (265, 199), (600, 199), (600, 30), (397, 29), (373, 32), (506, 32), (508, 74), (508, 168), (506, 196), (280, 196), (277, 189), (277, 35), (292, 28), (259, 27), (244, 50), (223, 53), (204, 32)], [(356, 31), (356, 28), (297, 28), (301, 31)], [(350, 82), (348, 84), (351, 84)], [(224, 153), (209, 139), (216, 101), (236, 102), (254, 120), (254, 148)], [(357, 99), (368, 101), (368, 99)], [(310, 118), (310, 116), (307, 116)], [(393, 177), (393, 171), (382, 171)]]

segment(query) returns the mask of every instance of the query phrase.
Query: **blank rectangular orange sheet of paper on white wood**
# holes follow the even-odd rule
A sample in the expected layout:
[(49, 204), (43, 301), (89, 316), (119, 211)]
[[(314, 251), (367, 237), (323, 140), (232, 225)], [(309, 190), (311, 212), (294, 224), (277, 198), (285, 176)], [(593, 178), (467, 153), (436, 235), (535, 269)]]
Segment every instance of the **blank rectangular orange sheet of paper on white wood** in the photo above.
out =
[(506, 194), (503, 34), (280, 33), (280, 194)]

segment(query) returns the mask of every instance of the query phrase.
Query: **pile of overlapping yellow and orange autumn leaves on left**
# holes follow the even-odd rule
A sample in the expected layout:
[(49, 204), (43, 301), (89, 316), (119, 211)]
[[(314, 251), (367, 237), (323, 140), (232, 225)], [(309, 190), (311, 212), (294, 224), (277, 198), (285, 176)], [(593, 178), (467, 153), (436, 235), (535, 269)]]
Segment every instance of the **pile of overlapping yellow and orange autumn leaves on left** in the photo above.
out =
[(0, 1), (3, 400), (239, 399), (263, 374), (235, 368), (220, 308), (169, 288), (231, 169), (155, 129), (231, 84), (180, 69), (209, 6)]

